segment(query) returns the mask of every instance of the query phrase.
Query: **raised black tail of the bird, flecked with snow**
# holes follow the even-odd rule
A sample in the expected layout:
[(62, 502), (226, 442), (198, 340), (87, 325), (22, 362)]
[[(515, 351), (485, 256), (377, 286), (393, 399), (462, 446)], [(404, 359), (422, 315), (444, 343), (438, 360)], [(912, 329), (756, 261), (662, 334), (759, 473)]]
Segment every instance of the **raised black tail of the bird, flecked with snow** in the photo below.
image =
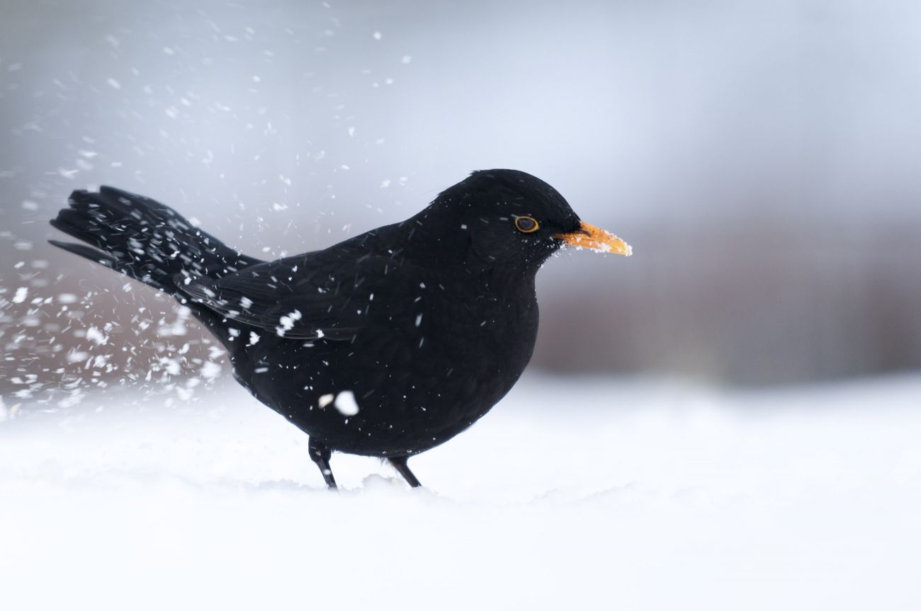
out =
[(169, 206), (134, 193), (75, 190), (68, 204), (51, 224), (85, 244), (49, 240), (54, 246), (175, 296), (182, 296), (176, 282), (183, 277), (220, 278), (261, 262), (196, 229)]

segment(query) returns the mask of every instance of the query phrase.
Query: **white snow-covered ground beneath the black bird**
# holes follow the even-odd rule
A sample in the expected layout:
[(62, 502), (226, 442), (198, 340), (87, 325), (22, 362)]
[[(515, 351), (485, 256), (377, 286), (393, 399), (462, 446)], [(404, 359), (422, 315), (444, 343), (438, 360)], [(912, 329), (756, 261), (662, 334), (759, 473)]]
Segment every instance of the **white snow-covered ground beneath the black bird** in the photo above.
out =
[(921, 608), (921, 377), (530, 375), (338, 494), (236, 386), (131, 397), (0, 422), (3, 608)]

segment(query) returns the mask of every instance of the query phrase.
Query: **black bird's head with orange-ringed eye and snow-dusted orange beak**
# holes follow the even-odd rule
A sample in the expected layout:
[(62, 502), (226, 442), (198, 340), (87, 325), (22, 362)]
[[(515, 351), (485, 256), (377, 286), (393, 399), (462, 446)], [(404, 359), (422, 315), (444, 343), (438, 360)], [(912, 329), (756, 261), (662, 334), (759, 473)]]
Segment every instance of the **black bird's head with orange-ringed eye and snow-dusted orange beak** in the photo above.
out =
[(409, 223), (429, 238), (437, 237), (452, 252), (458, 251), (458, 242), (463, 243), (468, 264), (475, 258), (485, 265), (511, 264), (536, 271), (555, 250), (567, 245), (626, 256), (632, 252), (624, 240), (582, 222), (546, 182), (511, 169), (473, 172), (442, 191)]

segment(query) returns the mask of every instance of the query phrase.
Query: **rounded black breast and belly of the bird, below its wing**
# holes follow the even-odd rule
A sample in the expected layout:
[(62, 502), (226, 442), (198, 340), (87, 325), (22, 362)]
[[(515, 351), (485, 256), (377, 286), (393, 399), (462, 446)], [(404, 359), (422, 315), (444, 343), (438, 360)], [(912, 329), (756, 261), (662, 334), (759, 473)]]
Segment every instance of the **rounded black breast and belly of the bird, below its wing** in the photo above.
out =
[[(376, 295), (367, 326), (352, 340), (265, 346), (268, 363), (260, 370), (268, 375), (260, 375), (254, 394), (309, 434), (359, 454), (422, 451), (470, 426), (530, 360), (538, 325), (533, 291), (438, 286), (421, 296), (401, 293)], [(297, 369), (274, 368), (273, 361)], [(335, 398), (345, 391), (354, 413), (337, 410)]]

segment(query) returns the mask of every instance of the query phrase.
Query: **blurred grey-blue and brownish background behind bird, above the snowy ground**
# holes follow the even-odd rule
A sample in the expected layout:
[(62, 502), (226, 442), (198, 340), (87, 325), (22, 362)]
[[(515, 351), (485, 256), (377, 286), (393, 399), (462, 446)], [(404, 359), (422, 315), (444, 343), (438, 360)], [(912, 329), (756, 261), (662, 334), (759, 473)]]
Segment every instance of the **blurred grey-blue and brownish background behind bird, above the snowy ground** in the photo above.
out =
[(46, 244), (70, 190), (146, 194), (267, 259), (489, 167), (635, 249), (548, 262), (532, 366), (733, 385), (921, 367), (916, 2), (0, 7), (7, 403), (227, 373), (171, 300)]

